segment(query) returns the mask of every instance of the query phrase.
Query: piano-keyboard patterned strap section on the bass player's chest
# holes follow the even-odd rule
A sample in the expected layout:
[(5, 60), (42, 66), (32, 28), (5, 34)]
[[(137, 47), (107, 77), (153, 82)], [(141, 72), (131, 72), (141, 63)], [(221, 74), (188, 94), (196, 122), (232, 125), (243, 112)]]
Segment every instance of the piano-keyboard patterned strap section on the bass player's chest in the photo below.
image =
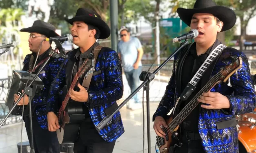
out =
[(225, 49), (227, 46), (220, 44), (218, 45), (211, 54), (207, 57), (207, 59), (204, 61), (203, 65), (199, 68), (199, 70), (196, 72), (194, 77), (189, 82), (191, 85), (196, 86), (198, 82), (200, 81), (200, 78), (204, 74), (205, 70), (207, 70), (208, 66), (211, 64), (211, 62), (215, 59), (216, 56), (219, 55), (219, 53)]

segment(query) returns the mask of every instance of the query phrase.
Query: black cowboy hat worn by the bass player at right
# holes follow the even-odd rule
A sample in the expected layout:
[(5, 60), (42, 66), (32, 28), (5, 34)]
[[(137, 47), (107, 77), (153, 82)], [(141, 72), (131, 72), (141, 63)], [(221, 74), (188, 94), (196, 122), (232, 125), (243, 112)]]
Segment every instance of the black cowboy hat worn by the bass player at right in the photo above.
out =
[(188, 26), (195, 13), (209, 13), (218, 17), (223, 22), (221, 31), (227, 31), (236, 24), (236, 13), (232, 9), (216, 5), (212, 0), (196, 0), (194, 9), (178, 8), (177, 13)]

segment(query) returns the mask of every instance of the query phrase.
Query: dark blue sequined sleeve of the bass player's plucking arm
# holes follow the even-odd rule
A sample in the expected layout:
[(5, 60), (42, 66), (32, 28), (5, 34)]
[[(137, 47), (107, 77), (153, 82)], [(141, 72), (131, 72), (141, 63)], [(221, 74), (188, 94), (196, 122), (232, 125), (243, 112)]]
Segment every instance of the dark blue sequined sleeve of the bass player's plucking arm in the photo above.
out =
[(174, 107), (174, 101), (175, 101), (175, 61), (174, 66), (172, 70), (171, 79), (166, 86), (165, 94), (163, 98), (161, 99), (155, 114), (153, 115), (153, 122), (156, 118), (156, 116), (162, 116), (165, 118), (169, 111)]

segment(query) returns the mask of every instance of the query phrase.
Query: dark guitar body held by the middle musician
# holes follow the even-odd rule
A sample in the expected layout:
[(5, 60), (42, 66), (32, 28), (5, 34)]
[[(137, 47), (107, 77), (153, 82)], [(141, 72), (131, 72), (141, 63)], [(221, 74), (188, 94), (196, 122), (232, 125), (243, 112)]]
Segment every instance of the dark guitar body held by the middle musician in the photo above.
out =
[[(65, 85), (63, 95), (66, 95), (67, 92), (67, 85)], [(70, 144), (77, 140), (80, 122), (85, 119), (82, 105), (84, 105), (84, 103), (69, 100), (63, 114), (59, 116), (60, 129), (56, 132), (60, 144)]]

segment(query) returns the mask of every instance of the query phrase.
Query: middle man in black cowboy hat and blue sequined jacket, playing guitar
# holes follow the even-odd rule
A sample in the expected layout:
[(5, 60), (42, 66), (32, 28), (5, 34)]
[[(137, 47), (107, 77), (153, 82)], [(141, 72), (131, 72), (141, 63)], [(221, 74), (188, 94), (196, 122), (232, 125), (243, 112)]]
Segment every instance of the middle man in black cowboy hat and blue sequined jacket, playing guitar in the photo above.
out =
[(117, 52), (96, 42), (97, 39), (109, 37), (109, 26), (98, 13), (84, 8), (78, 9), (75, 17), (66, 20), (72, 25), (73, 43), (79, 46), (68, 53), (67, 87), (70, 87), (84, 61), (88, 59), (86, 64), (92, 67), (85, 72), (88, 77), (80, 79), (76, 87), (78, 90), (69, 92), (73, 101), (82, 103), (85, 114), (74, 144), (74, 153), (112, 153), (116, 139), (124, 133), (120, 112), (99, 132), (95, 127), (118, 107), (116, 101), (123, 94), (122, 68)]

